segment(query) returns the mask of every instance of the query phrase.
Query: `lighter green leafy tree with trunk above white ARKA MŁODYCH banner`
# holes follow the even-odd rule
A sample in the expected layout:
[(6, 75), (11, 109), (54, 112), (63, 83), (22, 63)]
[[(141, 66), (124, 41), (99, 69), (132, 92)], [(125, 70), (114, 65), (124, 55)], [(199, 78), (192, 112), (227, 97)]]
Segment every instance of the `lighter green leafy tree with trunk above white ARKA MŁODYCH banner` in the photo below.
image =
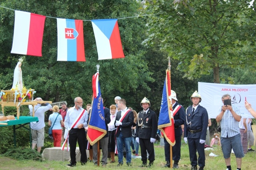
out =
[(250, 64), (255, 68), (255, 1), (144, 2), (147, 13), (160, 13), (148, 20), (144, 43), (159, 45), (178, 59), (178, 70), (185, 72), (184, 77), (200, 78), (212, 71), (212, 82), (220, 83), (221, 67), (244, 68)]

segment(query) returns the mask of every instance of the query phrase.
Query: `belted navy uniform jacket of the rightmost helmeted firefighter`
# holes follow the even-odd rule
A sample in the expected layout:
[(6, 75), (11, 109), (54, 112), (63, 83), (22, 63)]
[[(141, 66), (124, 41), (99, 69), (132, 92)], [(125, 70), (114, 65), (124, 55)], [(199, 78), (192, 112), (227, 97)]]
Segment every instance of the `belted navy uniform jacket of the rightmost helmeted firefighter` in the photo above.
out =
[[(200, 138), (202, 140), (206, 140), (206, 130), (208, 127), (208, 113), (207, 110), (198, 105), (196, 110), (194, 111), (194, 114), (192, 115), (192, 106), (189, 106), (186, 110), (186, 118), (184, 123), (184, 137), (187, 138)], [(191, 125), (187, 124), (191, 121)], [(202, 129), (202, 131), (197, 133), (190, 133), (188, 130), (199, 130)]]

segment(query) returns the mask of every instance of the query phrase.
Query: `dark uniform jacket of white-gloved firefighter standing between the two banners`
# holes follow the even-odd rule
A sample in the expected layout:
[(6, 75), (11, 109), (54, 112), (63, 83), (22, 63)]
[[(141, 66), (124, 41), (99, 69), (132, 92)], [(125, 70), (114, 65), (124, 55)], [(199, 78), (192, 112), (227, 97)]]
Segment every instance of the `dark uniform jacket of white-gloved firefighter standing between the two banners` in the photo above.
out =
[[(149, 128), (142, 128), (142, 126), (138, 126), (138, 121), (142, 125), (151, 126)], [(138, 121), (136, 123), (136, 137), (141, 139), (156, 139), (156, 132), (157, 132), (157, 118), (156, 113), (151, 109), (148, 109), (148, 113), (144, 117), (144, 110), (140, 111), (138, 114)]]

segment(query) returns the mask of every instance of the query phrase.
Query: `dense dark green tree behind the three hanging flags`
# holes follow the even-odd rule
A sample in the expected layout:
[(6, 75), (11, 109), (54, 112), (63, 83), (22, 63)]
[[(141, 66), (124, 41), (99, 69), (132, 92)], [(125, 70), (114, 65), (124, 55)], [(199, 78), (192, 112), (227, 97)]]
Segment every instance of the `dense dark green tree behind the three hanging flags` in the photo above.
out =
[[(82, 0), (36, 1), (6, 0), (1, 6), (28, 11), (49, 17), (69, 19), (108, 19), (125, 18), (138, 14), (140, 3), (136, 0)], [(12, 84), (13, 70), (20, 55), (10, 54), (14, 27), (14, 11), (0, 8), (2, 20), (0, 29), (0, 71), (2, 81)], [(145, 31), (142, 19), (129, 18), (118, 20), (124, 59), (98, 61), (96, 43), (90, 21), (84, 21), (84, 47), (86, 62), (56, 61), (57, 25), (56, 19), (46, 18), (42, 45), (42, 57), (26, 56), (22, 64), (24, 85), (36, 90), (34, 97), (53, 102), (68, 102), (73, 106), (76, 96), (81, 96), (85, 103), (91, 103), (92, 75), (96, 73), (96, 64), (100, 64), (100, 86), (105, 105), (114, 103), (114, 97), (134, 94), (138, 86), (149, 91), (147, 82), (152, 82), (152, 72), (148, 71), (144, 61), (145, 47), (141, 45), (140, 34)], [(141, 77), (145, 78), (142, 80)], [(10, 89), (10, 86), (6, 87)], [(128, 101), (132, 100), (128, 98)], [(137, 99), (136, 99), (137, 100)]]

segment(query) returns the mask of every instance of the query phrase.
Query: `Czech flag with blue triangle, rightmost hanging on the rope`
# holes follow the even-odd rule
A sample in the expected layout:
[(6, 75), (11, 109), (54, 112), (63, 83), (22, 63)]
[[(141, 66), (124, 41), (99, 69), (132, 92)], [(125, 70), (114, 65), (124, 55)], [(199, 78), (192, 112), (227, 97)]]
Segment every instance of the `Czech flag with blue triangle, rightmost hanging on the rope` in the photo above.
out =
[(92, 20), (98, 60), (124, 58), (117, 19)]

